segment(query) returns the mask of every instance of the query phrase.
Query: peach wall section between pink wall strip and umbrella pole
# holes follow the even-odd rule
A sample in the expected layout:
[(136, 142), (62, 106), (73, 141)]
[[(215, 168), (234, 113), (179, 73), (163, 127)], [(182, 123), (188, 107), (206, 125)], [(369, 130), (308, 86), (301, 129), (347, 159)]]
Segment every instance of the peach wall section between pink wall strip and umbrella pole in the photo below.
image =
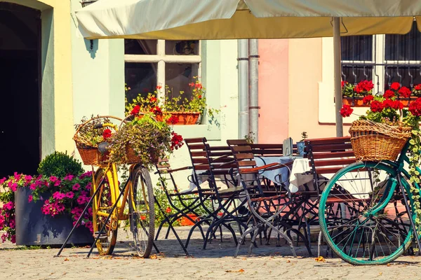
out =
[[(332, 39), (290, 39), (288, 52), (290, 137), (298, 141), (301, 132), (309, 138), (335, 137)], [(344, 135), (348, 130), (345, 125)]]

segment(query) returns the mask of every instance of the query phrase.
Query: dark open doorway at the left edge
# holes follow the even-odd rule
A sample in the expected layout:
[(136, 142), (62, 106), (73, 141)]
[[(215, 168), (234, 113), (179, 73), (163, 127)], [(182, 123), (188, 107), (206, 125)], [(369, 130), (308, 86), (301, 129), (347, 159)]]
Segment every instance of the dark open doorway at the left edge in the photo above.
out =
[(40, 160), (41, 12), (0, 2), (0, 179)]

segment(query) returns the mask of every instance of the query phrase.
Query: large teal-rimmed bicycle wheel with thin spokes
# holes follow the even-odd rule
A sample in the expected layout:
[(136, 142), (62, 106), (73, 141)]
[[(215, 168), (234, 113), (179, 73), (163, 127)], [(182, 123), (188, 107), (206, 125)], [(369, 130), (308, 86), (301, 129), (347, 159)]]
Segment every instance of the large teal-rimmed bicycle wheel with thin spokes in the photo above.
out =
[[(408, 193), (408, 181), (401, 182)], [(414, 209), (411, 197), (409, 204)], [(413, 232), (396, 169), (379, 162), (356, 162), (330, 179), (319, 223), (330, 248), (353, 265), (391, 262), (410, 246)]]

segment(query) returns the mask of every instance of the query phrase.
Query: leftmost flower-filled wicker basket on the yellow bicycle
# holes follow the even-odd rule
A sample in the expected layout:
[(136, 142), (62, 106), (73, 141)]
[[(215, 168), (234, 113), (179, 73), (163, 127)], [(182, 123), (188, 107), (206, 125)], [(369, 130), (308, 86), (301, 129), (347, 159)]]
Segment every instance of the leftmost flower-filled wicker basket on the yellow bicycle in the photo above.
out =
[(109, 127), (102, 127), (102, 124), (111, 123), (113, 119), (121, 121), (121, 118), (112, 116), (92, 116), (90, 119), (83, 117), (81, 123), (75, 125), (76, 133), (73, 139), (83, 164), (98, 166), (107, 162), (109, 153), (101, 152), (98, 145), (107, 142), (112, 136), (114, 131)]

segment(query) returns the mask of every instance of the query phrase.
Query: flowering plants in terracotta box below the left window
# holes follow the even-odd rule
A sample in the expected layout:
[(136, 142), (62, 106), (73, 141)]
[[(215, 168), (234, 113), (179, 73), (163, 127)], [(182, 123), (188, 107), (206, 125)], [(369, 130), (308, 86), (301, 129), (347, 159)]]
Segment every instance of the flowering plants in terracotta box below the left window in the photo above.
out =
[[(210, 123), (218, 122), (215, 119), (215, 113), (220, 110), (206, 107), (206, 90), (197, 77), (194, 81), (189, 83), (192, 90), (192, 97), (190, 99), (183, 98), (185, 92), (180, 92), (178, 96), (173, 96), (173, 91), (166, 85), (165, 98), (159, 100), (159, 91), (162, 86), (158, 85), (153, 93), (148, 93), (146, 96), (139, 94), (138, 97), (132, 100), (131, 103), (126, 99), (126, 116), (133, 110), (142, 113), (161, 113), (157, 120), (165, 120), (168, 125), (195, 125), (200, 123), (200, 117), (207, 113), (210, 118)], [(130, 87), (126, 87), (126, 92)]]

